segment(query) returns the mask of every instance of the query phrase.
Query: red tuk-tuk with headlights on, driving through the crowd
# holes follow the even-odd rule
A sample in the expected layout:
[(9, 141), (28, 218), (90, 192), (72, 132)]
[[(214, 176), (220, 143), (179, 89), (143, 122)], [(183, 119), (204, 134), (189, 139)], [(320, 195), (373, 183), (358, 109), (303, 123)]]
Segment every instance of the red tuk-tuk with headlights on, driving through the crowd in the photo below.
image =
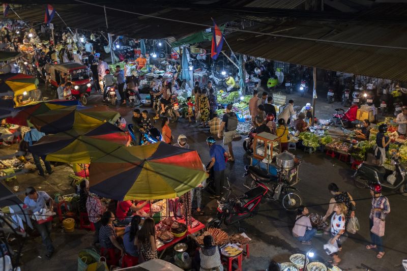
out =
[(92, 80), (88, 67), (76, 62), (51, 64), (49, 76), (49, 84), (54, 89), (56, 97), (58, 97), (56, 88), (60, 85), (61, 81), (69, 81), (72, 82), (72, 96), (83, 105), (88, 104), (87, 98), (91, 95), (92, 88)]

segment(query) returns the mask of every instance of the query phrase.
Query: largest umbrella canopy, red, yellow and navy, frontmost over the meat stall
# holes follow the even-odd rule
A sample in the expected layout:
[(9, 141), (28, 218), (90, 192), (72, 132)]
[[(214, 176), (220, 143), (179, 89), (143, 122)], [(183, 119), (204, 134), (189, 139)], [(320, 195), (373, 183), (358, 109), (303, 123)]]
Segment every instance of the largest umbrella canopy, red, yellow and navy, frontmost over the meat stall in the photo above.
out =
[(93, 160), (90, 191), (115, 200), (181, 196), (208, 177), (196, 150), (158, 142)]

